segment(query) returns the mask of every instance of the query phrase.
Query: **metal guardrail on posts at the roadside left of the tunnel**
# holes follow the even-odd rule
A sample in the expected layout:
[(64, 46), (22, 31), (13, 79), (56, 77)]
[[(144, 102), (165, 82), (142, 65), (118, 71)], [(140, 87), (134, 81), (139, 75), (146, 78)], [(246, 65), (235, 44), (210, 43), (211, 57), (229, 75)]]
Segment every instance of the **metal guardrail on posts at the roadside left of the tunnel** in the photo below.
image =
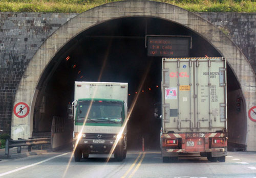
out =
[(28, 146), (28, 151), (31, 151), (33, 145), (48, 144), (51, 143), (50, 138), (34, 138), (34, 139), (18, 139), (18, 140), (6, 140), (5, 143), (5, 154), (9, 155), (10, 148), (18, 147), (17, 153), (22, 152), (22, 146)]

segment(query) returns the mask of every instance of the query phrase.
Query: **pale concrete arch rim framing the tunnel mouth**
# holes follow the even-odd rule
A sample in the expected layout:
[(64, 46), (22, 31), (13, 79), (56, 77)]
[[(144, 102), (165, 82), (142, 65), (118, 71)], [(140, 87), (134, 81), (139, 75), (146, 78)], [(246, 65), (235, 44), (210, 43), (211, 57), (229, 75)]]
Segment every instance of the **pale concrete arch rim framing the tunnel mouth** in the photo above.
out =
[[(200, 16), (179, 7), (150, 1), (123, 1), (110, 3), (88, 10), (63, 24), (56, 30), (40, 48), (30, 61), (16, 91), (14, 105), (23, 101), (30, 106), (30, 113), (22, 122), (12, 113), (11, 137), (28, 138), (33, 131), (33, 111), (38, 93), (36, 86), (41, 74), (56, 53), (72, 38), (81, 32), (108, 20), (122, 17), (155, 17), (178, 23), (212, 44), (227, 58), (230, 67), (241, 84), (247, 111), (255, 106), (255, 75), (240, 49), (217, 27)], [(33, 94), (32, 94), (33, 93)], [(22, 123), (21, 123), (22, 122)], [(247, 150), (256, 150), (254, 129), (256, 124), (247, 115)], [(20, 127), (22, 124), (22, 128)]]

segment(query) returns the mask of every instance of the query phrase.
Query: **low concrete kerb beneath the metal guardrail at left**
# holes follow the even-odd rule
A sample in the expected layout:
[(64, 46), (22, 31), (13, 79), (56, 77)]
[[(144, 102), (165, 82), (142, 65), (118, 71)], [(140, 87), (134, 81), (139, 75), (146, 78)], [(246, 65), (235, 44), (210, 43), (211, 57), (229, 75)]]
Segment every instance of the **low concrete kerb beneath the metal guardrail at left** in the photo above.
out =
[(20, 154), (17, 153), (17, 148), (11, 148), (10, 154), (5, 155), (5, 148), (0, 149), (0, 159), (17, 159), (17, 158), (25, 158), (29, 156), (41, 155), (47, 152), (51, 152), (51, 149), (34, 149), (32, 151), (28, 151), (28, 149), (23, 149)]

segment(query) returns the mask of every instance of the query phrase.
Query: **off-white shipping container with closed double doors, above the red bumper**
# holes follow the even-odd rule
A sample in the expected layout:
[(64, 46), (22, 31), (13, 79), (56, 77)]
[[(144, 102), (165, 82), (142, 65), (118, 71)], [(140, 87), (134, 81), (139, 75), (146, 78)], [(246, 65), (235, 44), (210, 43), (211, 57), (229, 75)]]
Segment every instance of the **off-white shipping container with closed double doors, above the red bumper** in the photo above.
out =
[(163, 133), (227, 128), (226, 59), (162, 59)]

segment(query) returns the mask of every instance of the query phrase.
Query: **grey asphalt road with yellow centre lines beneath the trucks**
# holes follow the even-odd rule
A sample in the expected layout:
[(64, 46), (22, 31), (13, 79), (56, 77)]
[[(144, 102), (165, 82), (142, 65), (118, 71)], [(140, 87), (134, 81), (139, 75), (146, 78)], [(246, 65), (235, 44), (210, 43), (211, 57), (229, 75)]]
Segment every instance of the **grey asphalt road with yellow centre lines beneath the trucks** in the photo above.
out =
[(208, 162), (199, 155), (162, 163), (158, 151), (129, 151), (123, 162), (90, 155), (75, 162), (70, 151), (0, 161), (3, 177), (256, 177), (256, 152), (228, 152), (225, 163)]

